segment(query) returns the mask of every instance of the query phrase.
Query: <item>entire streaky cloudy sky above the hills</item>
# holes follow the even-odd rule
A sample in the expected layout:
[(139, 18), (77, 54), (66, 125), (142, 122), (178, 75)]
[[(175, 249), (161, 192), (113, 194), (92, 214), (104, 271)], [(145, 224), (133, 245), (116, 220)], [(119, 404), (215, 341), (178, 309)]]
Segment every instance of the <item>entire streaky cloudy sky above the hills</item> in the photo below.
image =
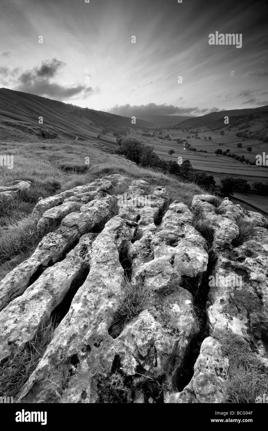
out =
[(0, 0), (0, 87), (124, 116), (268, 105), (267, 23), (262, 0)]

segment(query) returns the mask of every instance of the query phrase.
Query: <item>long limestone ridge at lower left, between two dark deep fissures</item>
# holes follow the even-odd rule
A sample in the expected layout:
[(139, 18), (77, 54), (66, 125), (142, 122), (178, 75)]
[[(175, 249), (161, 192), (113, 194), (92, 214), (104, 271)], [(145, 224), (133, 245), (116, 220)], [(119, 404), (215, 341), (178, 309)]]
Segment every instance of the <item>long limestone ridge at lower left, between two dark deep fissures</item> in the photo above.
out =
[(34, 338), (40, 319), (50, 316), (62, 302), (73, 281), (89, 271), (92, 241), (95, 234), (83, 235), (62, 262), (46, 269), (24, 294), (0, 312), (0, 362), (21, 350)]

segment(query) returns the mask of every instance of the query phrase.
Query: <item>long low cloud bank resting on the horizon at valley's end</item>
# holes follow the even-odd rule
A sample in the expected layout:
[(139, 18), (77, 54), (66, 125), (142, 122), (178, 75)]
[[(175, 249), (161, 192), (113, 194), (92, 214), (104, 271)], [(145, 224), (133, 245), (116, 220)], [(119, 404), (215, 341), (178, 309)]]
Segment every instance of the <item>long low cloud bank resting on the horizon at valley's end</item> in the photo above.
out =
[(156, 103), (148, 103), (148, 105), (134, 105), (130, 106), (129, 103), (126, 105), (118, 106), (115, 105), (111, 109), (107, 109), (107, 112), (111, 114), (117, 114), (126, 117), (132, 116), (142, 116), (142, 115), (202, 115), (209, 114), (209, 112), (222, 111), (224, 109), (219, 108), (205, 108), (199, 109), (197, 106), (191, 108), (184, 108), (174, 105), (166, 105), (162, 103), (161, 105), (156, 105)]

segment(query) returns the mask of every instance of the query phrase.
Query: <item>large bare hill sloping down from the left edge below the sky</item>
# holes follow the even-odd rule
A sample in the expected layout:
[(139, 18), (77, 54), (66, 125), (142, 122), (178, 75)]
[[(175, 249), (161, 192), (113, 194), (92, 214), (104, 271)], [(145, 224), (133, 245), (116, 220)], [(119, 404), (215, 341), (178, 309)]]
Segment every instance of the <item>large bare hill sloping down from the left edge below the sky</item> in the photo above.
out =
[[(40, 116), (43, 117), (43, 125), (38, 123)], [(87, 140), (102, 134), (103, 129), (125, 134), (129, 128), (147, 128), (150, 125), (143, 120), (132, 125), (129, 117), (0, 88), (1, 139), (26, 135), (42, 137), (42, 133), (52, 132), (62, 138)]]

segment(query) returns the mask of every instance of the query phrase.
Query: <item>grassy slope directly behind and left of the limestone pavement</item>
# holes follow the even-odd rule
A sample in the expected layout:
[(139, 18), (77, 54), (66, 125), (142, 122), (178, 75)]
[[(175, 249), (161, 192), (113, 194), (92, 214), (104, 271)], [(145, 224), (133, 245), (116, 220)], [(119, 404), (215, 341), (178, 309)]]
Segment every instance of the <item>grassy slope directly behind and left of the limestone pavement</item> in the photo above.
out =
[[(126, 175), (130, 180), (148, 181), (151, 193), (154, 187), (165, 186), (172, 200), (188, 206), (195, 194), (203, 193), (195, 184), (179, 182), (160, 172), (139, 168), (122, 156), (105, 153), (92, 141), (3, 142), (0, 154), (14, 154), (14, 168), (0, 168), (0, 185), (16, 179), (33, 181), (32, 187), (17, 200), (0, 207), (0, 279), (26, 259), (42, 238), (31, 215), (39, 197), (114, 173)], [(89, 157), (88, 165), (85, 157)]]

